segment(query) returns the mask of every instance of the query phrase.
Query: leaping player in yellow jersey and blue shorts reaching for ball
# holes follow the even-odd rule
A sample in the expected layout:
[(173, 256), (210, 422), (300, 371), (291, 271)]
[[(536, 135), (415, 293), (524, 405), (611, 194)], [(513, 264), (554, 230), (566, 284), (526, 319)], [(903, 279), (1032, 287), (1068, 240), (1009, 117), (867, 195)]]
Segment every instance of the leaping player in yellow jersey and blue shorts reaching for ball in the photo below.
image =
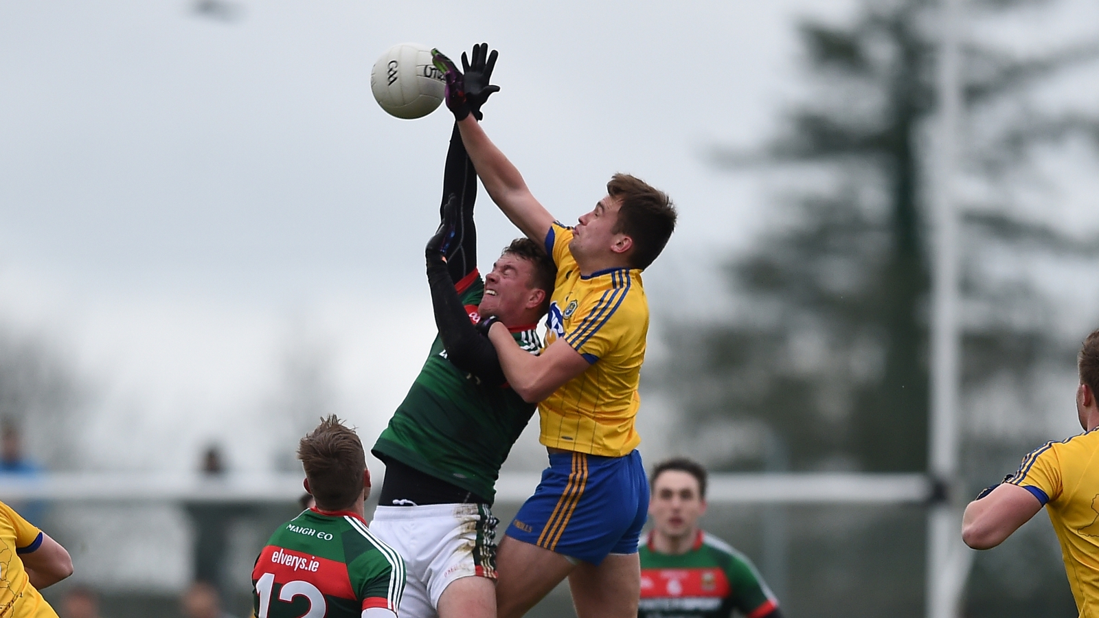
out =
[[(492, 201), (557, 268), (542, 354), (528, 354), (491, 317), (489, 339), (512, 388), (540, 401), (550, 467), (500, 543), (497, 603), (522, 616), (566, 576), (580, 618), (632, 618), (641, 584), (637, 540), (648, 479), (635, 450), (648, 301), (641, 271), (675, 229), (668, 197), (623, 174), (575, 228), (554, 220), (470, 109), (486, 86), (446, 56), (446, 104)], [(493, 88), (491, 86), (487, 88)]]

